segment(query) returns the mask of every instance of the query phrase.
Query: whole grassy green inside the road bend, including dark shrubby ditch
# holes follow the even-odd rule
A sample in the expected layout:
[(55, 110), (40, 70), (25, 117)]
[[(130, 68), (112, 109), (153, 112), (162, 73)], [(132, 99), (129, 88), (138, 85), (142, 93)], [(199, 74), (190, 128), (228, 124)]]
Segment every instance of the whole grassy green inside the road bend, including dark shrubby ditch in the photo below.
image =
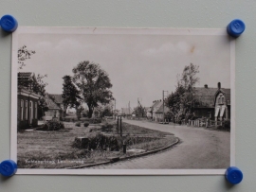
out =
[(127, 123), (122, 123), (120, 136), (114, 119), (51, 120), (34, 131), (18, 131), (18, 167), (67, 168), (99, 164), (165, 148), (175, 140), (170, 132)]

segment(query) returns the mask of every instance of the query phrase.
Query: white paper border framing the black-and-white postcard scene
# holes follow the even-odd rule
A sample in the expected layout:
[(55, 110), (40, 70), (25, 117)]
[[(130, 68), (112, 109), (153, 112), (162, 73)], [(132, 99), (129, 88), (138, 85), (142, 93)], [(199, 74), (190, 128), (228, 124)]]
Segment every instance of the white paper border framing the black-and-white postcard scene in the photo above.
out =
[[(11, 51), (11, 116), (10, 159), (17, 162), (17, 51), (19, 34), (151, 34), (151, 35), (211, 35), (227, 36), (230, 43), (231, 129), (230, 166), (235, 166), (235, 40), (226, 28), (107, 28), (107, 27), (52, 27), (19, 26), (12, 33)], [(227, 167), (228, 168), (228, 167)], [(22, 175), (225, 175), (226, 169), (25, 169)]]

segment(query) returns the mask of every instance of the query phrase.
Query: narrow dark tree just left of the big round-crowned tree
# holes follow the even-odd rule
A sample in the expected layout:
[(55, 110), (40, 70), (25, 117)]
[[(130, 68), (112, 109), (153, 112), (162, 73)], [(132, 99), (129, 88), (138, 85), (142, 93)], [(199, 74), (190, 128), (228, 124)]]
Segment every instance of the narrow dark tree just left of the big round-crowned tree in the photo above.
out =
[(62, 97), (64, 98), (63, 103), (64, 103), (64, 116), (65, 116), (66, 115), (65, 111), (67, 107), (76, 108), (78, 110), (80, 106), (81, 97), (79, 96), (80, 92), (72, 82), (72, 78), (70, 76), (64, 76), (63, 79), (64, 79), (64, 83), (63, 83)]

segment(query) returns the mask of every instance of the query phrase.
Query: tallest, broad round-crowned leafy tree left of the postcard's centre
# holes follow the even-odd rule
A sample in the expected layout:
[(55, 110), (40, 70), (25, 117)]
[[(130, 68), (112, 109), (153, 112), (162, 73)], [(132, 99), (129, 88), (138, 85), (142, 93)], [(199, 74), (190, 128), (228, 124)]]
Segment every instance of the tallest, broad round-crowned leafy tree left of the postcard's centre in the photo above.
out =
[(99, 104), (104, 105), (113, 100), (110, 91), (112, 84), (108, 74), (94, 62), (82, 61), (72, 71), (72, 80), (80, 92), (82, 101), (88, 106), (90, 118)]

